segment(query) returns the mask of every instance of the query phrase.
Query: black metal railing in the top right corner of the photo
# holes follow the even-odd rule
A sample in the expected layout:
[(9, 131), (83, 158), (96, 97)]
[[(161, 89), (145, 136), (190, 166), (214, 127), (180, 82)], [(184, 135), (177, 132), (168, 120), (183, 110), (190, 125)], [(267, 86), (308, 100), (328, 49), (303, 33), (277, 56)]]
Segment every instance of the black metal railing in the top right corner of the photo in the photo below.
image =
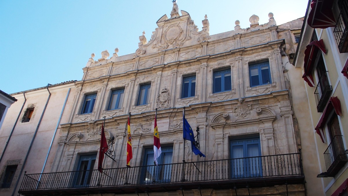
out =
[(340, 14), (337, 19), (333, 34), (340, 53), (348, 52), (348, 2), (346, 0), (339, 1)]

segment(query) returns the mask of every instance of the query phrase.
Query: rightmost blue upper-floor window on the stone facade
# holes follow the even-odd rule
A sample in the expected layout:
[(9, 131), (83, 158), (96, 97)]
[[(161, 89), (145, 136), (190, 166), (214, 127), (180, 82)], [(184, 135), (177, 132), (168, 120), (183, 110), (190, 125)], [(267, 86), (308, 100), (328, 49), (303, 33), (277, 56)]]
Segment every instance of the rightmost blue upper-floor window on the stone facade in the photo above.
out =
[(249, 66), (250, 86), (271, 84), (269, 62), (262, 62)]

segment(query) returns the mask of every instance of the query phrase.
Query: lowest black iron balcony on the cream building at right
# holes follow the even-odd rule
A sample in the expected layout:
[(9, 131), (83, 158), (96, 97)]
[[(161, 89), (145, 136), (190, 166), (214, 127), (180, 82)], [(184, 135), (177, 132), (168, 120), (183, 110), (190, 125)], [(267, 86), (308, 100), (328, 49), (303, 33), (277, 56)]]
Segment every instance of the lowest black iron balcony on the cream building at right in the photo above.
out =
[(334, 177), (348, 162), (347, 154), (343, 146), (342, 135), (333, 137), (330, 145), (324, 152), (327, 176)]

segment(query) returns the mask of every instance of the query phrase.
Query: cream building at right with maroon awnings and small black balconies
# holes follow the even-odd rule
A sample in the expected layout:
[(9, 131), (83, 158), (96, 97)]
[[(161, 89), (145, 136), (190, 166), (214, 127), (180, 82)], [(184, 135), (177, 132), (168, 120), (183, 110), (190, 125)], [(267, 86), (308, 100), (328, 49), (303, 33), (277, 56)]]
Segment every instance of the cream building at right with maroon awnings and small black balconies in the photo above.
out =
[[(306, 82), (312, 134), (324, 195), (347, 195), (348, 2), (308, 2), (293, 65)], [(310, 135), (309, 135), (310, 137)]]

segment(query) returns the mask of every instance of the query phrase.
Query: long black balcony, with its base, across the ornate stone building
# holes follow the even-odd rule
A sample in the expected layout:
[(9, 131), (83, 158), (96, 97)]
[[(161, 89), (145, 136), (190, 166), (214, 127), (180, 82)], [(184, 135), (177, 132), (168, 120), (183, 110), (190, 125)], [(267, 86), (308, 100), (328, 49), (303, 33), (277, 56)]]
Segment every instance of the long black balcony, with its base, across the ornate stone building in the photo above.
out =
[(301, 153), (98, 170), (24, 174), (22, 195), (155, 193), (303, 184)]

